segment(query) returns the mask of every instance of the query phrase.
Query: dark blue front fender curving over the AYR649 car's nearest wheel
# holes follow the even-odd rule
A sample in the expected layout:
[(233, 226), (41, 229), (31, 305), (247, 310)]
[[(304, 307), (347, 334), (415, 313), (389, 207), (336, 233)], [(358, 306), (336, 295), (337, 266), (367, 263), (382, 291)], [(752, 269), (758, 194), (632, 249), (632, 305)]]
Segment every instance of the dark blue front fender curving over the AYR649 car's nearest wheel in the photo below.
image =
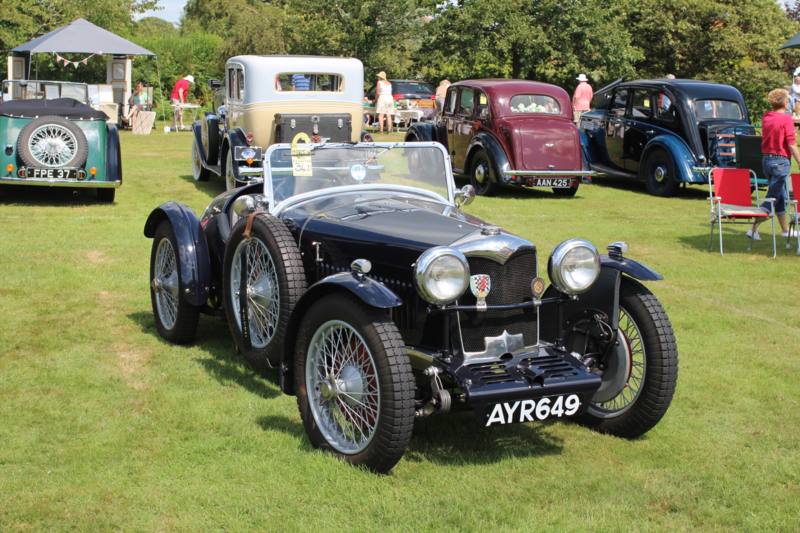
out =
[(385, 285), (368, 276), (358, 278), (350, 272), (339, 272), (314, 283), (303, 293), (298, 303), (294, 305), (294, 311), (289, 317), (289, 325), (286, 327), (286, 335), (284, 337), (286, 341), (283, 344), (278, 379), (281, 391), (284, 394), (294, 395), (294, 365), (292, 364), (294, 342), (297, 339), (303, 316), (306, 315), (306, 311), (314, 302), (336, 291), (356, 295), (371, 307), (389, 309), (402, 305), (402, 299), (398, 295), (395, 295)]

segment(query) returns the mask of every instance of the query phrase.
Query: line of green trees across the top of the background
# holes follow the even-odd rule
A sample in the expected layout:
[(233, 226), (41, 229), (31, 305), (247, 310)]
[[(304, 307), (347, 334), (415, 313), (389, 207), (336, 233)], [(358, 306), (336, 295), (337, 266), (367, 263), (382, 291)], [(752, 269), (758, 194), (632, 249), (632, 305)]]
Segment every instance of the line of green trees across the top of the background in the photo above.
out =
[[(737, 87), (754, 118), (800, 64), (796, 51), (778, 52), (800, 31), (800, 5), (774, 0), (188, 0), (177, 28), (154, 17), (134, 21), (154, 6), (3, 0), (0, 50), (82, 17), (158, 54), (166, 97), (193, 74), (200, 103), (210, 102), (206, 80), (222, 78), (231, 56), (314, 54), (360, 59), (367, 85), (385, 70), (434, 86), (444, 78), (534, 79), (571, 94), (580, 73), (595, 89), (674, 74)], [(97, 82), (105, 68), (91, 60), (63, 68), (45, 57), (39, 78)], [(134, 78), (145, 78), (146, 68), (146, 58), (135, 59)], [(153, 85), (155, 74), (151, 62)]]

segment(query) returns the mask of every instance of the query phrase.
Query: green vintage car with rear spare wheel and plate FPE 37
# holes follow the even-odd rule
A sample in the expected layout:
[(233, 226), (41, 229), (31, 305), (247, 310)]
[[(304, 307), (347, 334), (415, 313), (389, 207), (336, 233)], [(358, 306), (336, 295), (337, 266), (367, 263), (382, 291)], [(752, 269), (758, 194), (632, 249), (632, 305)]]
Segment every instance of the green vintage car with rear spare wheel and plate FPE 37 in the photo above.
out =
[(94, 188), (114, 202), (122, 185), (117, 126), (73, 98), (0, 104), (0, 184)]

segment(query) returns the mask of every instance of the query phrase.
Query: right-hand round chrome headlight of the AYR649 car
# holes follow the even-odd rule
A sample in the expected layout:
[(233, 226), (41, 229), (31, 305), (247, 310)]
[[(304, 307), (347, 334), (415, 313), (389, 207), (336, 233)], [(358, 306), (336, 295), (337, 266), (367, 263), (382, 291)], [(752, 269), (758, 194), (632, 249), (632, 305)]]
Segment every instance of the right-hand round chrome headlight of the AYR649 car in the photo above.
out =
[(591, 242), (570, 238), (555, 247), (547, 260), (547, 275), (558, 291), (577, 295), (592, 286), (600, 274), (600, 256)]

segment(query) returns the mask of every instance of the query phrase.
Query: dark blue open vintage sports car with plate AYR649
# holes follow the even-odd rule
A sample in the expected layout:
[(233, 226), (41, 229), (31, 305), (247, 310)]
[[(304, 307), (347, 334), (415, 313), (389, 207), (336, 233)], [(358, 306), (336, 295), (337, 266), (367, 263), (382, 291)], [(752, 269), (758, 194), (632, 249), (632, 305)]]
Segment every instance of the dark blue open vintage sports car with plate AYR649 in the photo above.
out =
[(199, 217), (150, 214), (155, 323), (190, 343), (200, 313), (226, 317), (250, 363), (278, 367), (314, 447), (383, 472), (429, 415), (633, 438), (666, 413), (678, 352), (639, 282), (662, 278), (626, 243), (562, 242), (546, 287), (532, 242), (460, 209), (474, 188), (435, 142), (278, 144), (263, 167)]

